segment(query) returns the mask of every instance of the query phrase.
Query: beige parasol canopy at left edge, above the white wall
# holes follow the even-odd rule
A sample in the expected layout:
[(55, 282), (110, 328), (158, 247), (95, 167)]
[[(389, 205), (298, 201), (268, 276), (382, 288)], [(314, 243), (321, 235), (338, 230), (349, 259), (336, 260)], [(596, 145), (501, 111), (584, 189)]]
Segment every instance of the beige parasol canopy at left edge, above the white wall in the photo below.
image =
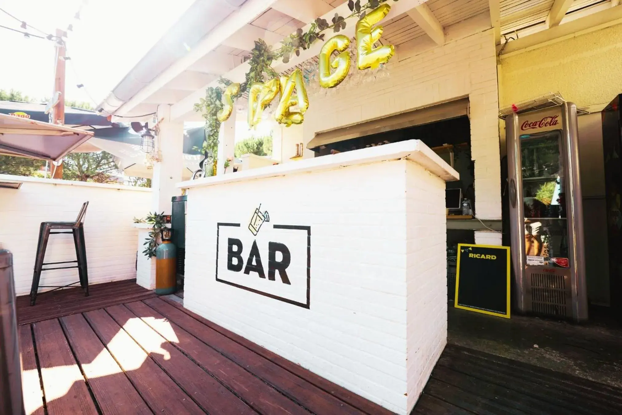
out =
[(0, 154), (60, 161), (93, 137), (90, 131), (0, 114)]

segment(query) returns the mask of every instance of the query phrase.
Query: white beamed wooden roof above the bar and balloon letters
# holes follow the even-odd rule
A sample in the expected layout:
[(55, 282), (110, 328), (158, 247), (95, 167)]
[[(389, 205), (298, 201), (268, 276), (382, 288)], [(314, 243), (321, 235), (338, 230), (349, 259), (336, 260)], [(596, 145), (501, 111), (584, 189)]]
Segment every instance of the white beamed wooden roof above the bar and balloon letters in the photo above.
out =
[[(156, 73), (149, 80), (139, 79), (140, 73), (129, 73), (125, 80), (136, 81), (136, 93), (128, 100), (118, 100), (114, 91), (102, 103), (104, 111), (119, 116), (136, 116), (156, 111), (158, 105), (171, 105), (171, 118), (180, 121), (200, 121), (193, 105), (205, 95), (208, 86), (218, 85), (218, 78), (242, 82), (248, 72), (244, 58), (250, 54), (254, 40), (264, 39), (279, 47), (279, 42), (296, 29), (307, 29), (316, 17), (331, 21), (335, 12), (340, 16), (350, 14), (347, 0), (197, 0), (208, 1), (207, 7), (239, 4), (239, 7), (216, 24), (196, 45), (172, 65)], [(399, 0), (388, 1), (391, 12), (381, 23), (384, 27), (381, 42), (396, 46), (399, 59), (401, 50), (416, 49), (417, 44), (430, 42), (443, 44), (448, 28), (468, 19), (490, 22), (495, 29), (498, 49), (503, 53), (560, 37), (567, 31), (584, 30), (602, 24), (603, 19), (613, 21), (622, 17), (622, 7), (609, 10), (619, 0)], [(364, 2), (364, 1), (361, 1)], [(222, 3), (222, 4), (221, 4)], [(232, 9), (233, 10), (233, 9)], [(206, 13), (208, 13), (206, 11)], [(618, 16), (620, 14), (620, 16)], [(588, 21), (588, 17), (592, 20)], [(204, 21), (209, 21), (210, 14)], [(618, 17), (616, 17), (618, 16)], [(570, 24), (572, 22), (572, 24)], [(577, 22), (581, 24), (577, 24)], [(564, 28), (563, 30), (562, 27)], [(564, 32), (565, 30), (565, 32)], [(341, 34), (352, 37), (355, 21), (348, 21)], [(327, 34), (330, 37), (331, 34)], [(425, 40), (422, 40), (427, 38)], [(173, 39), (175, 40), (175, 39)], [(550, 39), (549, 39), (550, 40)], [(175, 40), (183, 42), (183, 39)], [(160, 42), (171, 43), (163, 38)], [(514, 43), (516, 42), (516, 43)], [(531, 43), (530, 43), (531, 42)], [(277, 72), (286, 72), (305, 60), (318, 55), (322, 42), (300, 57), (292, 56), (288, 63), (274, 62)], [(112, 104), (111, 104), (112, 103)]]

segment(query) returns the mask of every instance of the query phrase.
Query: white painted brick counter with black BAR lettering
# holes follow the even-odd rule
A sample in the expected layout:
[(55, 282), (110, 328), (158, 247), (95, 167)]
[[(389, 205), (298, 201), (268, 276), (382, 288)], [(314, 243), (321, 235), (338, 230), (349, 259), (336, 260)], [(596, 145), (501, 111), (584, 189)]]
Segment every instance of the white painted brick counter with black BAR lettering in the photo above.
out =
[(457, 179), (409, 140), (182, 182), (184, 306), (407, 414), (447, 342)]

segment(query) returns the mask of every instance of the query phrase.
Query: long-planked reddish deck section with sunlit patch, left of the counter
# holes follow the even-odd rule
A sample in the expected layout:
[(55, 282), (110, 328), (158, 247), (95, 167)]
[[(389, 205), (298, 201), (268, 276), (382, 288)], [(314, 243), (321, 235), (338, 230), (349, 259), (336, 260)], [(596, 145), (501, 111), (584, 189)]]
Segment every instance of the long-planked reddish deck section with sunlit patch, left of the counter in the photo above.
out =
[(162, 298), (19, 337), (28, 414), (390, 414)]

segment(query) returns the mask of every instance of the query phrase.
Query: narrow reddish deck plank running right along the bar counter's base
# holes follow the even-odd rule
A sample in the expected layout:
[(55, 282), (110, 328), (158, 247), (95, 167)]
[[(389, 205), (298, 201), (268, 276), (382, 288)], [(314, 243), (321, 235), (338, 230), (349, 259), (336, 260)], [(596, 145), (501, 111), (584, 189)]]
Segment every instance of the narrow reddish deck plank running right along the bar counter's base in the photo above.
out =
[(270, 350), (267, 350), (267, 348), (261, 347), (260, 345), (253, 343), (250, 340), (247, 340), (246, 338), (236, 333), (233, 333), (230, 330), (225, 329), (224, 327), (220, 327), (220, 325), (210, 322), (210, 320), (204, 319), (200, 315), (195, 314), (190, 310), (184, 309), (182, 305), (177, 304), (176, 302), (169, 300), (167, 298), (162, 298), (162, 299), (165, 302), (167, 302), (167, 304), (173, 305), (175, 308), (185, 312), (185, 314), (190, 315), (190, 317), (193, 317), (193, 319), (196, 319), (199, 322), (202, 322), (203, 324), (207, 325), (208, 327), (210, 327), (210, 329), (216, 330), (216, 332), (219, 332), (222, 335), (225, 335), (226, 337), (230, 338), (236, 343), (239, 343), (240, 345), (243, 345), (249, 350), (253, 350), (253, 352), (258, 353), (259, 355), (271, 361), (272, 363), (281, 366), (285, 370), (289, 371), (290, 373), (296, 376), (299, 376), (300, 378), (303, 378), (304, 380), (308, 381), (312, 385), (315, 385), (318, 388), (322, 389), (323, 391), (332, 394), (336, 398), (340, 399), (341, 401), (345, 403), (350, 404), (354, 408), (358, 408), (364, 413), (368, 413), (368, 414), (378, 414), (378, 415), (391, 415), (392, 414), (392, 412), (389, 411), (388, 409), (383, 408), (382, 406), (379, 406), (378, 404), (373, 403), (369, 401), (368, 399), (365, 399), (356, 393), (348, 391), (348, 389), (343, 388), (342, 386), (339, 386), (325, 378), (322, 378), (322, 376), (318, 376), (315, 373), (309, 370), (306, 370), (302, 366), (297, 365), (293, 363), (292, 361), (289, 361), (285, 358), (282, 358), (281, 356), (277, 355), (276, 353), (271, 352)]

